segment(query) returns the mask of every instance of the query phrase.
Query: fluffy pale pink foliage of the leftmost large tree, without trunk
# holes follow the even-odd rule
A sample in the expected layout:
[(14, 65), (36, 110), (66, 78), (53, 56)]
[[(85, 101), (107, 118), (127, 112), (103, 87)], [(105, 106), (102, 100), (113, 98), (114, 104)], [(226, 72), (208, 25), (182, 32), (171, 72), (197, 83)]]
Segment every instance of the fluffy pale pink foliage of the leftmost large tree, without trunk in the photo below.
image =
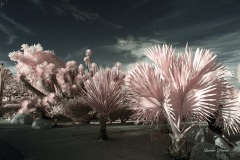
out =
[[(17, 62), (17, 77), (26, 75), (31, 80), (31, 84), (42, 92), (52, 86), (42, 86), (38, 81), (43, 79), (44, 83), (48, 84), (51, 73), (65, 66), (64, 62), (59, 60), (52, 51), (44, 51), (40, 44), (22, 45), (21, 51), (11, 52), (9, 57)], [(36, 86), (37, 83), (38, 86)]]

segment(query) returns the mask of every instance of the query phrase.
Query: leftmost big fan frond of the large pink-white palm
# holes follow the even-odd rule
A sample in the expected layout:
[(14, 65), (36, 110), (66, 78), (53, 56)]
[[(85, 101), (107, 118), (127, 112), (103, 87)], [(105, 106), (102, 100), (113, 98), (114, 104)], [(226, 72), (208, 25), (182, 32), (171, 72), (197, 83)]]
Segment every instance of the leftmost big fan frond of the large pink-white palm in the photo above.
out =
[(154, 68), (146, 63), (137, 64), (130, 69), (126, 77), (128, 100), (140, 115), (138, 121), (153, 123), (163, 114), (174, 118), (168, 104), (170, 87), (160, 77), (160, 74), (155, 73)]

